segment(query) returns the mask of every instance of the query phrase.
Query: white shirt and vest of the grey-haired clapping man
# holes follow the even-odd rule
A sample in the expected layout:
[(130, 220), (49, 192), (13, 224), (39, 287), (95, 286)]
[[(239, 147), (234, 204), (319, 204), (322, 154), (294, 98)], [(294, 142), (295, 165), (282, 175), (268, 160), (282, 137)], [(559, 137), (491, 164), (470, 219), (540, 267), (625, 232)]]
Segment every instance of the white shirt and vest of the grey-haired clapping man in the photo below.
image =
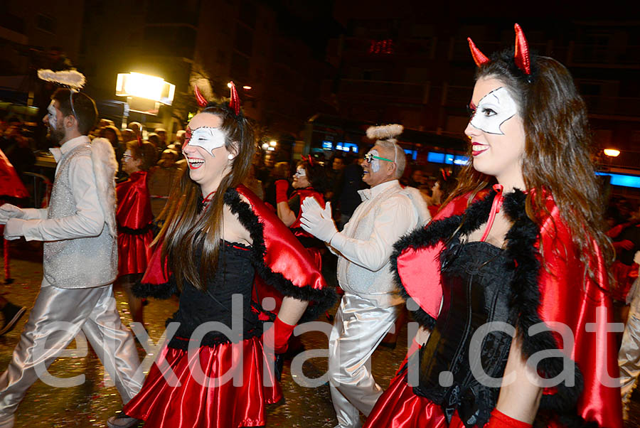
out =
[(398, 180), (359, 191), (358, 205), (342, 232), (331, 239), (338, 259), (338, 282), (347, 292), (380, 306), (399, 304), (389, 257), (393, 244), (417, 226), (418, 213)]

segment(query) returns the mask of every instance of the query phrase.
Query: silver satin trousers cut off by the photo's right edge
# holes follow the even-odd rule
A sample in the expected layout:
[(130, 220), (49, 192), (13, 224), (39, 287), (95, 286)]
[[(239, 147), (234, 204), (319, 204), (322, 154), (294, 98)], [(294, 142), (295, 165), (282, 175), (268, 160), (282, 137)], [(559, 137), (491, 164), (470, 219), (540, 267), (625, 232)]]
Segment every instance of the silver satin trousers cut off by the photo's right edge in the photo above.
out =
[(629, 314), (626, 321), (622, 346), (618, 353), (618, 366), (620, 368), (620, 393), (622, 402), (626, 404), (631, 398), (636, 380), (640, 375), (640, 314)]

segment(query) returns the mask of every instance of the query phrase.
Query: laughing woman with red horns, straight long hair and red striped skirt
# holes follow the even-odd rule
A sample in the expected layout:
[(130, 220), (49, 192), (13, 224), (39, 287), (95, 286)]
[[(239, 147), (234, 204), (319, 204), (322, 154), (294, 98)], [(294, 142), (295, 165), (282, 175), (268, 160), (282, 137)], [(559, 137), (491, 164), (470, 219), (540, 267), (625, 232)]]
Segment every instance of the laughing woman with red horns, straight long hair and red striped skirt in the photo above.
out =
[[(124, 407), (126, 416), (112, 417), (110, 427), (132, 426), (136, 418), (144, 419), (145, 427), (264, 426), (265, 404), (282, 398), (272, 366), (263, 367), (265, 355), (286, 351), (301, 316), (313, 320), (335, 300), (309, 253), (240, 184), (250, 168), (254, 141), (235, 87), (230, 107), (213, 102), (203, 107), (187, 128), (182, 150), (188, 173), (170, 196), (158, 237), (162, 243), (143, 284), (134, 288), (139, 295), (158, 298), (180, 290), (178, 311), (169, 320), (180, 325), (151, 366), (142, 391)], [(262, 323), (273, 316), (262, 309), (264, 294), (254, 287), (255, 274), (281, 298), (264, 345)], [(234, 314), (238, 295), (242, 311)], [(212, 321), (233, 331), (226, 335), (203, 326)], [(202, 328), (206, 334), (198, 338), (196, 329)], [(273, 350), (268, 343), (274, 343)], [(166, 375), (163, 367), (173, 374)], [(238, 370), (239, 385), (235, 379), (225, 381)], [(171, 377), (178, 382), (170, 384)]]

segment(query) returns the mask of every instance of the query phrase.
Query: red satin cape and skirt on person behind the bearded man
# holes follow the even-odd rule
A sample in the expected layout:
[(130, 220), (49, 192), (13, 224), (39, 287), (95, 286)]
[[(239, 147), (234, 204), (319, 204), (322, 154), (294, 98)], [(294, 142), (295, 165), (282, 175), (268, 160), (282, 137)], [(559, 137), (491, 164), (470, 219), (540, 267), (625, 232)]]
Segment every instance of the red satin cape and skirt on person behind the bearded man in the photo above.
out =
[[(149, 224), (154, 219), (151, 213), (151, 199), (146, 186), (149, 174), (137, 171), (127, 181), (116, 186), (118, 206), (116, 220), (118, 231), (118, 275), (142, 274), (151, 257), (151, 242), (154, 234)], [(122, 227), (139, 230), (144, 233), (127, 233)]]

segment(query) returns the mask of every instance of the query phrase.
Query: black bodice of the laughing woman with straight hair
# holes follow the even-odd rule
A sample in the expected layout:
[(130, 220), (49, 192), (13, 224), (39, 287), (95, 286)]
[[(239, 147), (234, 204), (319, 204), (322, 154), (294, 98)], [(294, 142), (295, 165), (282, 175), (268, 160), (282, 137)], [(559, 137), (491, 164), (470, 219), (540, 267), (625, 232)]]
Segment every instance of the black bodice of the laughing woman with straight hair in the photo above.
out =
[[(196, 260), (200, 260), (199, 251), (196, 252)], [(196, 335), (200, 331), (206, 333), (201, 345), (213, 346), (240, 340), (239, 334), (228, 337), (220, 331), (213, 331), (215, 326), (211, 324), (212, 321), (222, 323), (238, 333), (241, 331), (242, 339), (260, 335), (262, 322), (258, 320), (257, 311), (252, 309), (251, 299), (254, 274), (249, 247), (230, 242), (220, 245), (218, 269), (215, 276), (207, 281), (206, 291), (196, 289), (189, 282), (183, 283), (178, 311), (167, 320), (167, 323), (180, 323), (169, 346), (186, 349), (190, 339), (197, 341)], [(232, 321), (234, 294), (240, 295), (242, 300), (242, 312), (236, 315), (235, 329)]]

